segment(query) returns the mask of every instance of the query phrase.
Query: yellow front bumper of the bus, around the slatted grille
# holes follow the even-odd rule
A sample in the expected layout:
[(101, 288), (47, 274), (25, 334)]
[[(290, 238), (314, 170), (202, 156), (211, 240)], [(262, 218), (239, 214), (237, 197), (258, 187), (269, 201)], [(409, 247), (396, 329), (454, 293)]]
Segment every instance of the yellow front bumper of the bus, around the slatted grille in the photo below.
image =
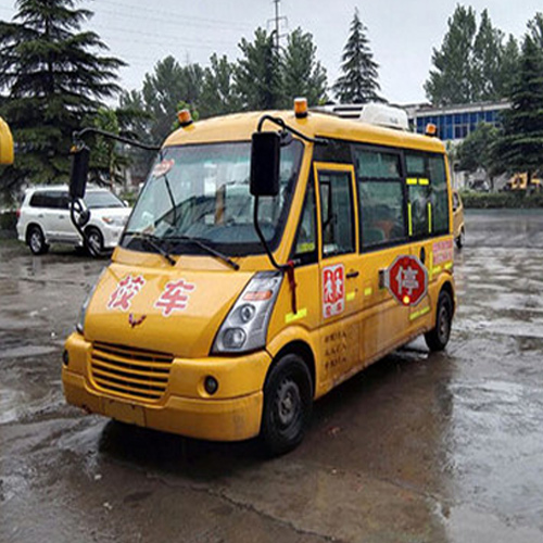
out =
[[(156, 402), (123, 397), (97, 386), (90, 370), (92, 345), (80, 334), (68, 338), (66, 351), (64, 395), (88, 413), (213, 441), (241, 441), (260, 432), (262, 390), (272, 362), (265, 351), (236, 358), (174, 358), (167, 389)], [(219, 382), (213, 399), (202, 387), (207, 375)]]

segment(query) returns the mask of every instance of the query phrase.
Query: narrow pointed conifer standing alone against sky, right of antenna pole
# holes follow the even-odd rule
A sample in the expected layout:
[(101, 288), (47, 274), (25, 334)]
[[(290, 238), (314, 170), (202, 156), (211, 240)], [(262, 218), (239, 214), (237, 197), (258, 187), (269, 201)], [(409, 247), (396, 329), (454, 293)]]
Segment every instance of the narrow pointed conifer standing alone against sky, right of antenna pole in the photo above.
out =
[(384, 101), (379, 96), (378, 68), (366, 36), (367, 28), (355, 9), (351, 34), (343, 48), (341, 75), (333, 85), (333, 92), (343, 103), (366, 103)]

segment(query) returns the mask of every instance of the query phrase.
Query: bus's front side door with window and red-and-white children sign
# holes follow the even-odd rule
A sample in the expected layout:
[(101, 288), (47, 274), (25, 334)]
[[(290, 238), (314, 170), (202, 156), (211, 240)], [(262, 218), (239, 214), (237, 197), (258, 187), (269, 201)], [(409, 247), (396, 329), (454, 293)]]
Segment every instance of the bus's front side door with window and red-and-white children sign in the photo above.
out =
[(320, 359), (337, 382), (361, 362), (361, 257), (352, 165), (315, 163), (319, 210)]

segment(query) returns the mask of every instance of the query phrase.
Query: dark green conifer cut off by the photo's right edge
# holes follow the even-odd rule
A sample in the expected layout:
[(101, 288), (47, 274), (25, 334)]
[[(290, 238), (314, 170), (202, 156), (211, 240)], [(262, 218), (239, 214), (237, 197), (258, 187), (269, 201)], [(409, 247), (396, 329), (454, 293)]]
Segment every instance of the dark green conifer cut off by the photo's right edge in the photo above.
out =
[(502, 169), (527, 172), (530, 181), (543, 166), (543, 55), (530, 34), (522, 43), (510, 102), (503, 113), (496, 156)]

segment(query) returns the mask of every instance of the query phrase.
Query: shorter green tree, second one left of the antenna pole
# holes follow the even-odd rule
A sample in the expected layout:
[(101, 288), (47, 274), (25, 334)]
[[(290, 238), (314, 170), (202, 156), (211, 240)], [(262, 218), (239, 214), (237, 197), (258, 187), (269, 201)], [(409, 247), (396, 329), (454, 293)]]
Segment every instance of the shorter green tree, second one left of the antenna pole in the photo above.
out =
[(210, 58), (210, 66), (204, 68), (202, 94), (199, 111), (202, 118), (233, 113), (241, 108), (240, 97), (235, 85), (236, 65), (226, 55), (220, 59), (216, 53)]

